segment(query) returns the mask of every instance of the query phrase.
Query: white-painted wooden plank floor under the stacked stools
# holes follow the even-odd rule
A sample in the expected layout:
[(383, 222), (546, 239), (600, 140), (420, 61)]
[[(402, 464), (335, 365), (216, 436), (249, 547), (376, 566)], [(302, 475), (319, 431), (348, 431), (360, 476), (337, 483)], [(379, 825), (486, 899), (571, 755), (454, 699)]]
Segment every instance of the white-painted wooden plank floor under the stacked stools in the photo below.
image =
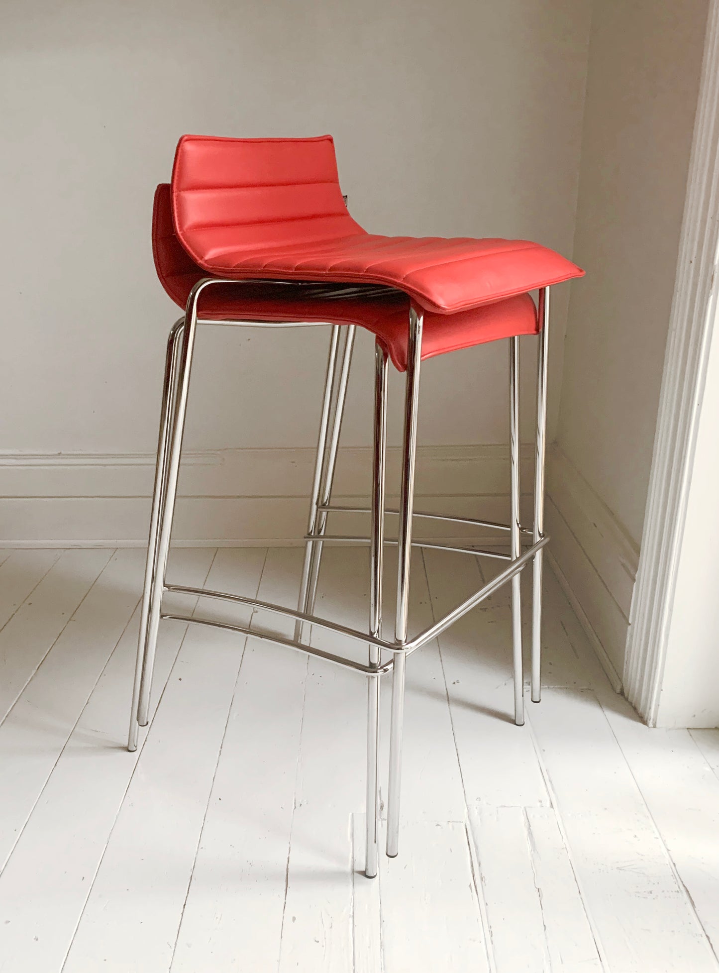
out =
[[(318, 610), (364, 627), (367, 553), (325, 558)], [(301, 559), (179, 550), (170, 578), (292, 606)], [(644, 727), (551, 574), (523, 728), (506, 590), (408, 663), (400, 855), (370, 882), (360, 676), (166, 622), (126, 752), (142, 561), (0, 552), (1, 973), (719, 973), (719, 731)], [(481, 581), (417, 554), (413, 631)]]

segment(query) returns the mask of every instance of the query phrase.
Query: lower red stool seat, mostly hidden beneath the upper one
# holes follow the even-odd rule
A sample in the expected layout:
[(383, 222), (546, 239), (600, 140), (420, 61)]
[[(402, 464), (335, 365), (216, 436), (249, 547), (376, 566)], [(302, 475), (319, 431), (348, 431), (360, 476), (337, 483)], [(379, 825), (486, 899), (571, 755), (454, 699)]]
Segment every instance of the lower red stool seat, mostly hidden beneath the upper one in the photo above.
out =
[[(181, 307), (193, 286), (211, 276), (189, 256), (172, 225), (170, 187), (158, 186), (153, 214), (155, 266), (167, 294)], [(199, 299), (201, 318), (244, 321), (326, 321), (359, 324), (377, 336), (394, 365), (407, 368), (410, 298), (400, 290), (376, 285), (348, 285), (340, 296), (327, 296), (325, 286), (297, 282), (292, 286), (267, 282), (217, 284)], [(537, 314), (528, 294), (455, 314), (424, 312), (422, 358), (494, 342), (512, 335), (536, 334)]]

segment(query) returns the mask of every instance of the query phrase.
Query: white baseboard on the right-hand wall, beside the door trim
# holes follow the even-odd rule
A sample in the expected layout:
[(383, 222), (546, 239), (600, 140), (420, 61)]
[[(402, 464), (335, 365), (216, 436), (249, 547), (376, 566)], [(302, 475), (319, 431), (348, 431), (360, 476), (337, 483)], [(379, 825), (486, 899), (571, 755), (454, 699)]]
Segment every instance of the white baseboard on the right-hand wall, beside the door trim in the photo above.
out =
[(620, 692), (638, 550), (557, 446), (548, 455), (547, 492), (548, 550), (557, 580)]

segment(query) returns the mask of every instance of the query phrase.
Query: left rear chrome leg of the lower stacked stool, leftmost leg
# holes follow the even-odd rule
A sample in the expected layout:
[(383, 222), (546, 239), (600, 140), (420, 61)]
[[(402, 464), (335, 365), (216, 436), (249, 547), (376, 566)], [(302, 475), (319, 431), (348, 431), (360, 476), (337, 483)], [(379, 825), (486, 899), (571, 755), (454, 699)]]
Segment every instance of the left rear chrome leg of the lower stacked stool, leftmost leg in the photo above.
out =
[(153, 577), (158, 566), (158, 540), (161, 511), (166, 492), (167, 455), (172, 428), (172, 414), (174, 409), (175, 390), (177, 386), (177, 366), (179, 361), (180, 342), (185, 327), (185, 318), (175, 322), (167, 340), (167, 354), (164, 363), (164, 381), (162, 385), (162, 411), (160, 416), (160, 437), (158, 442), (158, 459), (155, 467), (155, 488), (153, 490), (152, 514), (150, 516), (150, 537), (147, 546), (147, 562), (145, 565), (145, 583), (142, 591), (142, 608), (140, 610), (140, 631), (137, 639), (137, 662), (135, 664), (135, 678), (132, 685), (132, 707), (129, 718), (129, 735), (127, 749), (133, 752), (137, 749), (139, 724), (137, 722), (137, 706), (140, 698), (140, 681), (145, 661), (147, 647), (148, 619), (150, 614), (150, 593)]

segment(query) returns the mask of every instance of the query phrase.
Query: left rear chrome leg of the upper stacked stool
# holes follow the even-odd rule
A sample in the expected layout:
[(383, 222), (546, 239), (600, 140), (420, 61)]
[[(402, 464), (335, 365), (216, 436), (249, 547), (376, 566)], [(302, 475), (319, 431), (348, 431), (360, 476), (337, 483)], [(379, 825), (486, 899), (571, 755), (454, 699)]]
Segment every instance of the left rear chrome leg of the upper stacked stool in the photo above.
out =
[(167, 555), (169, 553), (170, 534), (172, 531), (172, 516), (174, 514), (175, 495), (177, 493), (177, 477), (180, 469), (182, 437), (185, 431), (185, 415), (187, 414), (190, 372), (195, 347), (195, 335), (198, 327), (198, 296), (202, 286), (202, 282), (200, 282), (190, 295), (182, 330), (177, 390), (174, 396), (174, 410), (171, 419), (172, 428), (168, 436), (169, 445), (166, 460), (165, 486), (159, 505), (158, 550), (154, 559), (154, 570), (150, 585), (147, 640), (142, 675), (140, 677), (139, 702), (137, 707), (137, 722), (143, 727), (147, 726), (150, 712), (150, 691), (152, 688), (153, 669), (155, 667), (155, 649), (158, 643), (158, 630), (160, 628), (164, 575), (167, 568)]

